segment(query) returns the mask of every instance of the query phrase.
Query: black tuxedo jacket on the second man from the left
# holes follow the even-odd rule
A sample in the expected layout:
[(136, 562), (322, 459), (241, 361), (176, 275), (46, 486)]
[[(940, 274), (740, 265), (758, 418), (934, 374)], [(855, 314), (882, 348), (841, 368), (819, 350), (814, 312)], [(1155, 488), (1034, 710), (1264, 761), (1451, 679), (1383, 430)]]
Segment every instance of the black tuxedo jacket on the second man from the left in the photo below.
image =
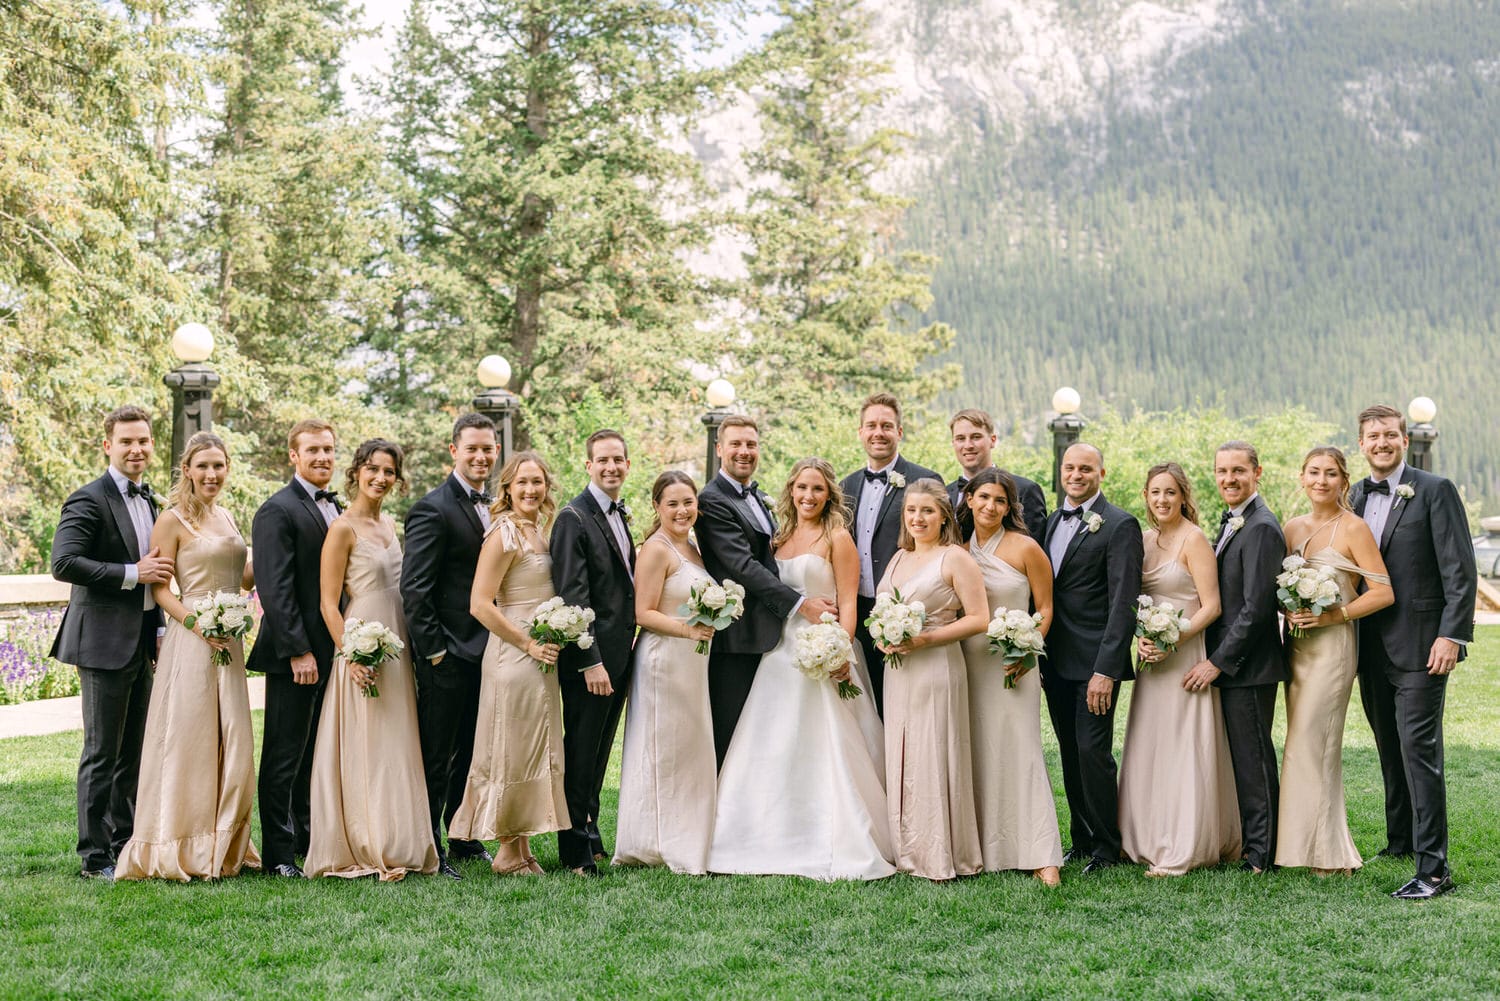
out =
[[(338, 501), (334, 501), (338, 507)], [(255, 593), (261, 630), (244, 666), (264, 674), (291, 674), (291, 659), (312, 653), (320, 677), (333, 666), (333, 639), (320, 608), (322, 540), (328, 522), (297, 480), (280, 488), (255, 512)]]

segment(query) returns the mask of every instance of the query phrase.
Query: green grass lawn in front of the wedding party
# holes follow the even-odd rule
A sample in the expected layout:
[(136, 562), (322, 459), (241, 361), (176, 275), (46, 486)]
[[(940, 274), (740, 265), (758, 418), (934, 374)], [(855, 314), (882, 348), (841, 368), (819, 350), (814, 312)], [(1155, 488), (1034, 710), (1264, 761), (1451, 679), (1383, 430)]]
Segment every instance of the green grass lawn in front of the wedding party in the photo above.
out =
[[(1056, 891), (1016, 873), (824, 885), (477, 864), (464, 882), (111, 887), (76, 875), (78, 749), (76, 732), (0, 741), (4, 998), (1500, 996), (1500, 627), (1449, 686), (1460, 890), (1420, 905), (1388, 896), (1410, 876), (1388, 860), (1347, 879), (1070, 866)], [(1372, 855), (1380, 774), (1358, 698), (1344, 761)], [(554, 839), (537, 854), (555, 867)]]

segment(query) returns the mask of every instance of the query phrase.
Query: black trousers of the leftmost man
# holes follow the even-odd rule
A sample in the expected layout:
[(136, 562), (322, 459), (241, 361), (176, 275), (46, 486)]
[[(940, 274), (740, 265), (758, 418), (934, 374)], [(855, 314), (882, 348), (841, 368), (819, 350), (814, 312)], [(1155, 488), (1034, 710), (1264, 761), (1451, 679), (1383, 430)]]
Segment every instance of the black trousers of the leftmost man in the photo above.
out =
[(84, 749), (78, 756), (78, 857), (112, 866), (135, 828), (135, 786), (152, 702), (154, 614), (142, 618), (135, 656), (118, 671), (78, 668)]

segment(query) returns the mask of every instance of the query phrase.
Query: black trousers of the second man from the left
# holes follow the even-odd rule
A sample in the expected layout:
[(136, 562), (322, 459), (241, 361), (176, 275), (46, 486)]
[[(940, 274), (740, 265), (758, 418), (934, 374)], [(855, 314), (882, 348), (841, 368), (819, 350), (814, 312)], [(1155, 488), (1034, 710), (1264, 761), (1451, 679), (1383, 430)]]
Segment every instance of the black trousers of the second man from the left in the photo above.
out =
[(312, 750), (322, 714), (328, 672), (316, 684), (297, 684), (291, 674), (266, 675), (266, 728), (255, 795), (261, 809), (261, 858), (267, 870), (308, 854)]

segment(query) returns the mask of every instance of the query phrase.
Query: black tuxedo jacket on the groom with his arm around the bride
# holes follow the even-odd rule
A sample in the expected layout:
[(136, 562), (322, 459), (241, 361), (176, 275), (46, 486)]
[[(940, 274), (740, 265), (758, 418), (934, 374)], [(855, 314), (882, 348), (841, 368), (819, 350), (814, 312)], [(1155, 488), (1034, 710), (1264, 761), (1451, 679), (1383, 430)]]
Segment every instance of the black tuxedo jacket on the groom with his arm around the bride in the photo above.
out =
[[(760, 500), (776, 531), (771, 504), (764, 494)], [(771, 536), (756, 524), (750, 503), (717, 473), (698, 495), (696, 533), (704, 566), (714, 579), (728, 578), (746, 588), (744, 614), (714, 635), (714, 653), (758, 654), (774, 648), (782, 641), (783, 623), (802, 597), (782, 582)]]

